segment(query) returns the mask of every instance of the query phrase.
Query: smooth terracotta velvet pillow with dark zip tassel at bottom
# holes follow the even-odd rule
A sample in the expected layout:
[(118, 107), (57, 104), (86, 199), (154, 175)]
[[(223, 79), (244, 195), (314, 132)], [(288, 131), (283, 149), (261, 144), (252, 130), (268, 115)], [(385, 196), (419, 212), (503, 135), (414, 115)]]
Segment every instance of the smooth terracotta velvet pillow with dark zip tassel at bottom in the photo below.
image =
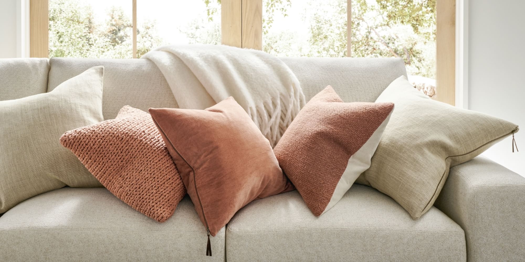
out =
[(268, 139), (233, 97), (206, 110), (150, 113), (212, 236), (249, 202), (292, 190)]

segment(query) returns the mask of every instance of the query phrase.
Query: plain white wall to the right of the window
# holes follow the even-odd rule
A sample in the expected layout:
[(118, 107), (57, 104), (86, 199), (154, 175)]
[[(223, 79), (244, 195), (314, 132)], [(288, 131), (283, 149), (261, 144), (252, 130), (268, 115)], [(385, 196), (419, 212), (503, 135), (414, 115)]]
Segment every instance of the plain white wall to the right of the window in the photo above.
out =
[(525, 1), (468, 3), (468, 107), (521, 126), (484, 155), (525, 177)]

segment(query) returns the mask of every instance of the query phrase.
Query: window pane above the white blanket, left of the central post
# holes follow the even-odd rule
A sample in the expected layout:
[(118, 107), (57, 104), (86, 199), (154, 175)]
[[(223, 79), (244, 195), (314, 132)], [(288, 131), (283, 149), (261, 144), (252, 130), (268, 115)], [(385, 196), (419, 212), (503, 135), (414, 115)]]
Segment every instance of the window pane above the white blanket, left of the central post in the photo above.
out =
[(220, 0), (137, 0), (137, 57), (169, 44), (220, 44)]

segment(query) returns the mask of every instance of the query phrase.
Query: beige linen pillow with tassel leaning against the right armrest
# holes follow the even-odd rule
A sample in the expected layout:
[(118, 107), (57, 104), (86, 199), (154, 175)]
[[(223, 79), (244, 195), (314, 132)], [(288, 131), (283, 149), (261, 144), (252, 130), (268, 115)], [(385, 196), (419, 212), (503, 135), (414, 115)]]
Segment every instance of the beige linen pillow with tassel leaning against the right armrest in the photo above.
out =
[(375, 102), (392, 102), (395, 108), (370, 169), (356, 182), (391, 196), (414, 219), (432, 207), (450, 167), (518, 132), (503, 119), (434, 101), (404, 76)]

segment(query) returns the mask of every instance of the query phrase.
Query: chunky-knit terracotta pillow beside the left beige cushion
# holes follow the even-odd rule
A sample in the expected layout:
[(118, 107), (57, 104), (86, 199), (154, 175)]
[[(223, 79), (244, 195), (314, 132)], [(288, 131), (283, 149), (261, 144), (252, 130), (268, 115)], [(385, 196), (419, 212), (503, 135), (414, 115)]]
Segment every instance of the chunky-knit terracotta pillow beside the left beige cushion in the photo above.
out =
[(186, 189), (150, 114), (124, 106), (117, 118), (60, 137), (104, 187), (152, 219), (169, 219)]

